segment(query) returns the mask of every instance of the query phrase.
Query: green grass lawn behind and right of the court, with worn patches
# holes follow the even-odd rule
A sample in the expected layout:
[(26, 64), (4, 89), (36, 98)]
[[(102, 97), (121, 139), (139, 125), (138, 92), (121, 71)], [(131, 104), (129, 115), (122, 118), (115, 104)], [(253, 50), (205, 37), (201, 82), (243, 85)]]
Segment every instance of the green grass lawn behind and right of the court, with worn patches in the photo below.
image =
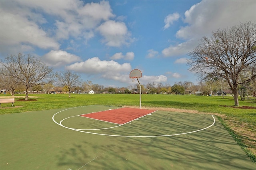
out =
[[(3, 96), (7, 95), (0, 95)], [(1, 115), (88, 105), (139, 106), (140, 102), (140, 96), (136, 94), (72, 94), (71, 98), (68, 98), (68, 94), (29, 94), (31, 101), (20, 101), (24, 99), (24, 95), (16, 97), (18, 98), (15, 98), (14, 108), (11, 103), (1, 104)], [(256, 107), (256, 99), (239, 101), (239, 104)], [(224, 107), (233, 105), (232, 96), (224, 96), (222, 99), (222, 96), (142, 95), (142, 107), (189, 109), (216, 115), (234, 140), (256, 163), (256, 109)]]

